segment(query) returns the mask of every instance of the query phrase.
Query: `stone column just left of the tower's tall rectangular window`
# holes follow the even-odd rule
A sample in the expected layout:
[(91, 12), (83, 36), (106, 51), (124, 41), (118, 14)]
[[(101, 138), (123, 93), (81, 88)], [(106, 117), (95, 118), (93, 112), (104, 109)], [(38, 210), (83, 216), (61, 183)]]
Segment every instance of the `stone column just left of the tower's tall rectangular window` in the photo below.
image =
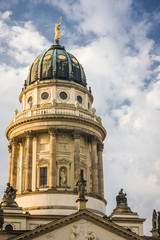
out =
[(31, 191), (32, 189), (32, 138), (33, 132), (25, 132), (27, 139), (27, 151), (26, 151), (26, 169), (25, 169), (25, 191)]

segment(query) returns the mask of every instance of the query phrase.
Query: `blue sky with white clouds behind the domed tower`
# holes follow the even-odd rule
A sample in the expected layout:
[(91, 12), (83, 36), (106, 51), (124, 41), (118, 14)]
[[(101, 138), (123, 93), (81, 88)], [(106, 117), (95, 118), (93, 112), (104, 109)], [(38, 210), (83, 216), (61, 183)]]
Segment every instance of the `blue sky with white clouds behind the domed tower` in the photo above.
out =
[(83, 65), (107, 130), (107, 215), (123, 188), (132, 211), (147, 218), (149, 235), (152, 211), (160, 211), (159, 0), (0, 0), (0, 196), (8, 181), (5, 129), (60, 16), (60, 44)]

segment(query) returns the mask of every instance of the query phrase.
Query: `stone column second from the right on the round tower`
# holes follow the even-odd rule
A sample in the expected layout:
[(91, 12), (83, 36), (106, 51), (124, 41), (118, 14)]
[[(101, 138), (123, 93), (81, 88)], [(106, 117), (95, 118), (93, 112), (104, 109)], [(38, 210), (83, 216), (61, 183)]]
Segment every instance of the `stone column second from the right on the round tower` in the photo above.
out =
[(97, 138), (91, 139), (92, 192), (98, 194)]

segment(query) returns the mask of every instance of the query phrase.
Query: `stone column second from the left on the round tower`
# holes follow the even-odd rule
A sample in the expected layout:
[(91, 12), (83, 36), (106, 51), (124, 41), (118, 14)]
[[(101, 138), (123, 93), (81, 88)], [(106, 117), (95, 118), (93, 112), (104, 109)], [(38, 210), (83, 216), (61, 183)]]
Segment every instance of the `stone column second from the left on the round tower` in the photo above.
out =
[(17, 188), (17, 147), (18, 138), (12, 138), (12, 163), (11, 163), (11, 178), (10, 185), (13, 188)]

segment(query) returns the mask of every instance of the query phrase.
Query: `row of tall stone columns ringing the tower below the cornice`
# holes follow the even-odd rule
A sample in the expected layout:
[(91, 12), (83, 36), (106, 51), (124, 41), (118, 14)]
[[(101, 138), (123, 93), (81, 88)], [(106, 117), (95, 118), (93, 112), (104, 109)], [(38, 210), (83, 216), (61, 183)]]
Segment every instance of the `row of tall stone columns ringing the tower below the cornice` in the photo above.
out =
[[(83, 132), (75, 130), (72, 132), (74, 139), (74, 186), (78, 180), (80, 173), (80, 138)], [(56, 189), (57, 187), (57, 166), (56, 166), (56, 141), (58, 132), (56, 129), (49, 129), (50, 142), (49, 142), (49, 189)], [(33, 131), (26, 131), (26, 165), (25, 165), (25, 182), (24, 191), (33, 191), (36, 189), (32, 182), (32, 166), (36, 161), (33, 159), (33, 138), (36, 138), (36, 134)], [(104, 197), (104, 185), (103, 185), (103, 144), (98, 140), (97, 137), (90, 136), (91, 142), (91, 186), (92, 193)], [(17, 188), (17, 159), (18, 159), (18, 148), (20, 139), (18, 137), (12, 138), (8, 147), (10, 153), (9, 161), (9, 178), (11, 186)], [(88, 150), (89, 151), (89, 150)], [(21, 159), (22, 160), (22, 159)], [(34, 161), (32, 163), (32, 161)], [(21, 164), (22, 166), (22, 164)], [(22, 173), (22, 171), (21, 171)], [(89, 174), (89, 173), (88, 173)], [(34, 181), (36, 184), (36, 180)]]

